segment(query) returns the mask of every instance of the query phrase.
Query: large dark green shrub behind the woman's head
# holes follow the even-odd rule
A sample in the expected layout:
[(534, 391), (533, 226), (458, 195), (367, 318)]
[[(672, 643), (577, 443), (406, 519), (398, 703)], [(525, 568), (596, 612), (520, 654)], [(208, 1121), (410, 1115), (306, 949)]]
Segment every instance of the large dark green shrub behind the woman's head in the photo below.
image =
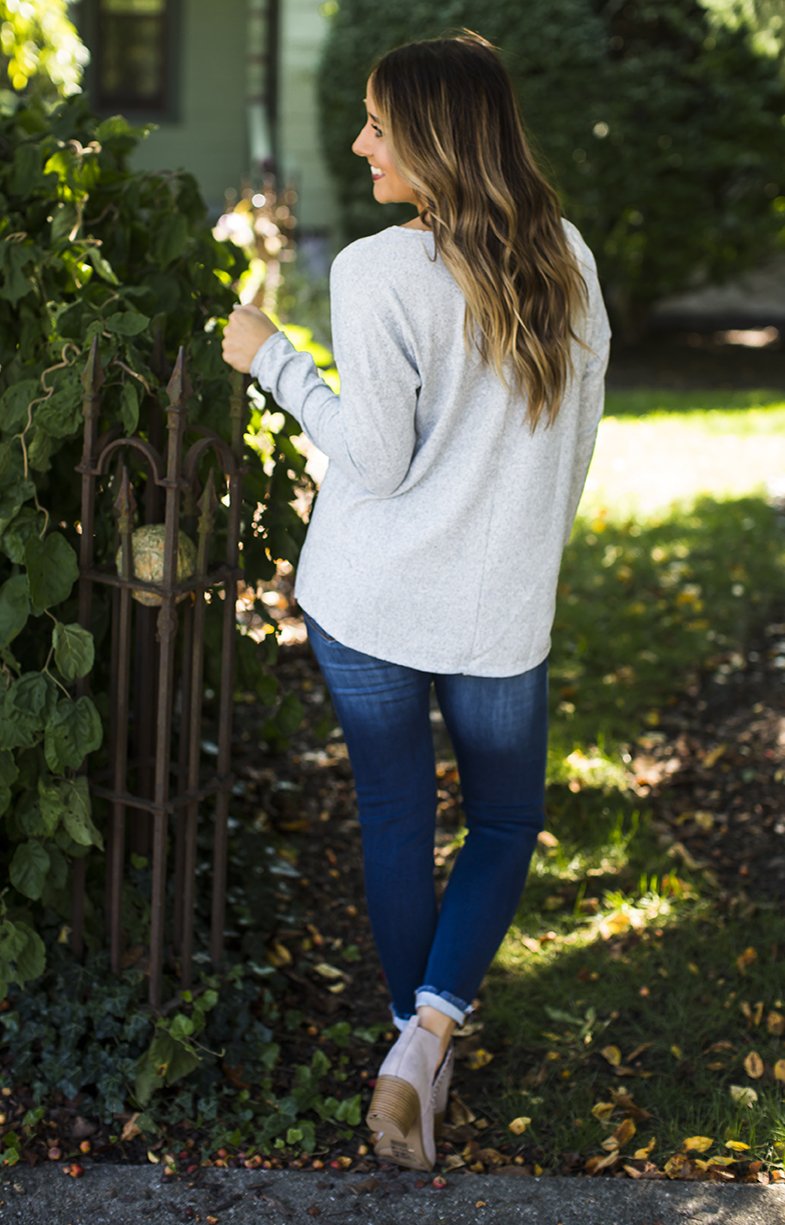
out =
[(502, 49), (620, 326), (665, 294), (742, 272), (785, 238), (785, 31), (767, 4), (340, 0), (320, 109), (344, 236), (399, 219), (374, 203), (350, 152), (369, 67), (399, 43), (469, 27)]

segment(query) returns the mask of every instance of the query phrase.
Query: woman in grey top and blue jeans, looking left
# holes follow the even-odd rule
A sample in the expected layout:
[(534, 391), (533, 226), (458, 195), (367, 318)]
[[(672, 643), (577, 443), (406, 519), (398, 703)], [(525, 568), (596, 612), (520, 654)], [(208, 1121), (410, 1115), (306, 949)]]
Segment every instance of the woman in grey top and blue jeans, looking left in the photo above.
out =
[[(380, 1156), (435, 1161), (451, 1038), (509, 926), (544, 820), (556, 582), (603, 412), (592, 254), (479, 36), (391, 51), (353, 145), (416, 213), (331, 272), (340, 398), (254, 307), (224, 358), (329, 457), (296, 583), (340, 719), (374, 936), (400, 1038), (367, 1114)], [(441, 905), (430, 691), (468, 834)]]

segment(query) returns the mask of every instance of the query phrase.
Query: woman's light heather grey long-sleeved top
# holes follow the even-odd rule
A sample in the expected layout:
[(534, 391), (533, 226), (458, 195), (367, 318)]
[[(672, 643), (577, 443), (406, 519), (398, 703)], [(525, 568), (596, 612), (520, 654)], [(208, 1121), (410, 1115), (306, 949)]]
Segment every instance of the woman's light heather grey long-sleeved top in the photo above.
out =
[(464, 299), (427, 230), (360, 239), (331, 272), (340, 397), (277, 333), (251, 372), (329, 458), (298, 567), (300, 605), (331, 636), (431, 673), (508, 676), (550, 649), (565, 543), (603, 413), (610, 330), (589, 289), (556, 423), (463, 339)]

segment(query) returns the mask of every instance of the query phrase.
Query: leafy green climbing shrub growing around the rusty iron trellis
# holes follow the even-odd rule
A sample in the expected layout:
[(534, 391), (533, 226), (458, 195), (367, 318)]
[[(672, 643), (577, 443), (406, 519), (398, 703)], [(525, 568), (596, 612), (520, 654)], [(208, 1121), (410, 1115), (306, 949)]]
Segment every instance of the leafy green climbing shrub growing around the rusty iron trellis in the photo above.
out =
[[(213, 238), (190, 175), (127, 169), (137, 140), (121, 118), (99, 123), (80, 97), (51, 113), (31, 103), (0, 116), (0, 998), (9, 982), (40, 973), (37, 929), (47, 916), (67, 919), (72, 864), (102, 846), (77, 774), (102, 742), (109, 660), (100, 595), (97, 649), (76, 624), (75, 599), (81, 377), (93, 339), (100, 431), (149, 435), (185, 345), (189, 425), (229, 437), (219, 325), (242, 262)], [(241, 529), (252, 584), (272, 577), (274, 559), (295, 559), (304, 530), (290, 505), (304, 461), (288, 431), (299, 426), (279, 414), (276, 425), (252, 408)], [(104, 481), (96, 517), (97, 560), (109, 567), (115, 494)], [(273, 659), (274, 636), (240, 646), (246, 666)], [(69, 692), (87, 674), (98, 704)], [(280, 707), (291, 723), (291, 702)]]

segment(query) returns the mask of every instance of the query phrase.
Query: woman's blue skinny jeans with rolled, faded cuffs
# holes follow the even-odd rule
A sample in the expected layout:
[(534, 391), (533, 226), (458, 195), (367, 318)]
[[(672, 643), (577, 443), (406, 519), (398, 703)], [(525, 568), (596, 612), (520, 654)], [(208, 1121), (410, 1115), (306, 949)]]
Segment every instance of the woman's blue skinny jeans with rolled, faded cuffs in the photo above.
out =
[[(547, 663), (518, 676), (430, 674), (353, 650), (307, 614), (305, 622), (349, 750), (393, 1017), (400, 1025), (430, 1005), (460, 1024), (513, 920), (543, 828)], [(468, 831), (441, 905), (431, 685)]]

